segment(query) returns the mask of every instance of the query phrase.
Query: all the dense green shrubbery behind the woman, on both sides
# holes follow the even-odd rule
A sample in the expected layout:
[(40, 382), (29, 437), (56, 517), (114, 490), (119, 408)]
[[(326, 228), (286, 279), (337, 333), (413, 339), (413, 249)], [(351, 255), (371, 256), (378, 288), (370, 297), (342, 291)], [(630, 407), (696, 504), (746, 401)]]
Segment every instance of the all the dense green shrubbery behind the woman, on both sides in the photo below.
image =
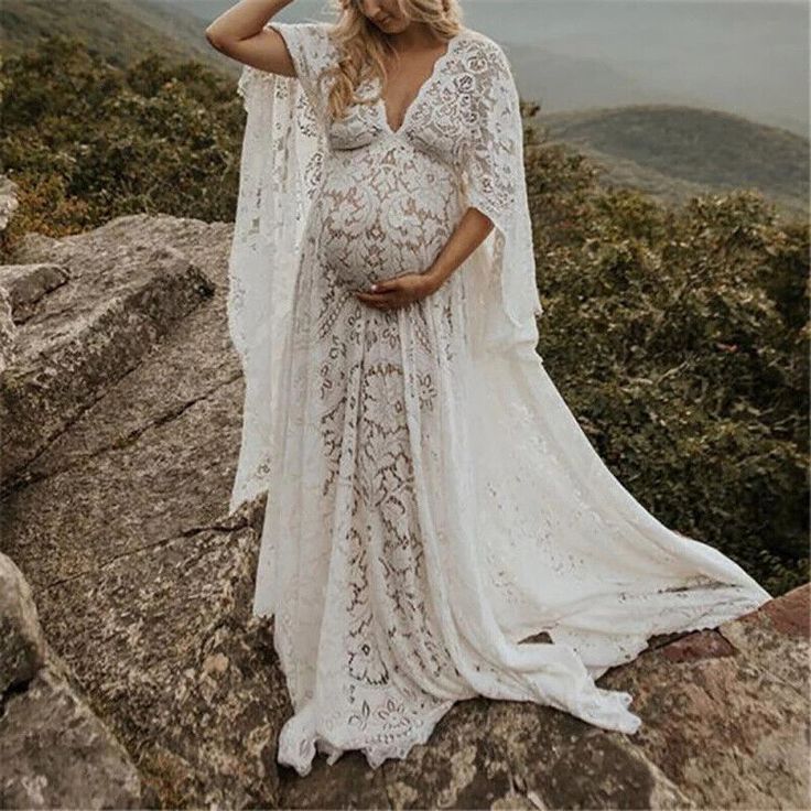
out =
[[(136, 212), (233, 218), (233, 80), (154, 55), (121, 71), (63, 39), (9, 60), (1, 80), (0, 158), (22, 190), (12, 240)], [(774, 594), (805, 582), (808, 224), (780, 224), (749, 192), (666, 208), (603, 188), (531, 113), (550, 375), (657, 518)]]

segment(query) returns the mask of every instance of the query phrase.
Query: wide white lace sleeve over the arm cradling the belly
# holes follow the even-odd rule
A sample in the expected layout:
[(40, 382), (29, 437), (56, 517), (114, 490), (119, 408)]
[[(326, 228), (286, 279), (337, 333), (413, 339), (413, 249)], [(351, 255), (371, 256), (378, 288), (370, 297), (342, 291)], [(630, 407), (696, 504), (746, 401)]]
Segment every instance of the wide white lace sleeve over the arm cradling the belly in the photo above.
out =
[(480, 315), (477, 345), (490, 353), (519, 350), (537, 361), (537, 316), (543, 310), (536, 279), (518, 89), (504, 51), (493, 41), (482, 43), (465, 69), (473, 78), (474, 99), (463, 154), (466, 197), (495, 226), (473, 257), (473, 292)]

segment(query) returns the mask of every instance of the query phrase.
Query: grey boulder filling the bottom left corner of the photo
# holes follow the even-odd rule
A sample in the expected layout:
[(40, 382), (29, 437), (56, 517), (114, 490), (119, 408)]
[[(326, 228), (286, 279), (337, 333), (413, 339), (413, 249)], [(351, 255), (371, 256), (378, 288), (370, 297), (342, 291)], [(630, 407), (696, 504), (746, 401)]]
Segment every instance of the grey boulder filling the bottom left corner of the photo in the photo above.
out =
[(31, 588), (0, 553), (0, 808), (139, 808), (141, 779), (47, 646)]

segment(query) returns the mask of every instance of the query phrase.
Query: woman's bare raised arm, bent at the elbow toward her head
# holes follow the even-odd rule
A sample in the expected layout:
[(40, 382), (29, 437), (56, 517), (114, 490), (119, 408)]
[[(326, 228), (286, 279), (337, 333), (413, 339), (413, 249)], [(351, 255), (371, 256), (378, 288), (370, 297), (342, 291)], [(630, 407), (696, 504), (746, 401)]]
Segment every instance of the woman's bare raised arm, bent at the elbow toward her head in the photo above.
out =
[(237, 62), (281, 76), (295, 76), (295, 65), (281, 34), (264, 28), (292, 0), (240, 0), (207, 29), (206, 39)]

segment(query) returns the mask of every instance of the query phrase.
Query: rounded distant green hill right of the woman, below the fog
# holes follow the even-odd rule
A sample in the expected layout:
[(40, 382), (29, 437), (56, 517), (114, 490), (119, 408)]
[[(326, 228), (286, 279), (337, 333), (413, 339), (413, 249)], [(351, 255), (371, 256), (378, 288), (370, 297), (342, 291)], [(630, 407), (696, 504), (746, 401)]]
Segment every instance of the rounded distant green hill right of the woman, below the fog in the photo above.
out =
[(787, 214), (809, 209), (809, 141), (717, 110), (638, 105), (541, 113), (554, 140), (603, 164), (605, 183), (679, 202), (755, 188)]

